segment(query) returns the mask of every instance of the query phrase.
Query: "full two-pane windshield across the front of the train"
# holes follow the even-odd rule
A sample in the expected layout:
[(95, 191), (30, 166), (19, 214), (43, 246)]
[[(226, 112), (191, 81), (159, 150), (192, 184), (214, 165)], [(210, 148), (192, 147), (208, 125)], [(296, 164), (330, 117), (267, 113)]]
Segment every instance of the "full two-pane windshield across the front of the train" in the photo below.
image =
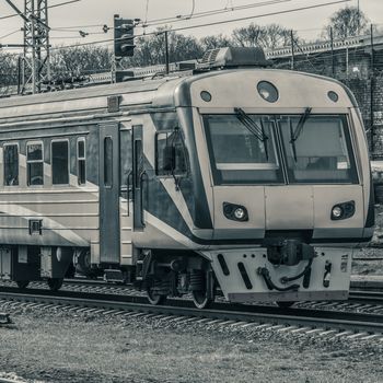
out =
[(303, 115), (248, 115), (236, 109), (204, 115), (204, 125), (216, 185), (358, 183), (344, 115), (312, 115), (310, 109)]

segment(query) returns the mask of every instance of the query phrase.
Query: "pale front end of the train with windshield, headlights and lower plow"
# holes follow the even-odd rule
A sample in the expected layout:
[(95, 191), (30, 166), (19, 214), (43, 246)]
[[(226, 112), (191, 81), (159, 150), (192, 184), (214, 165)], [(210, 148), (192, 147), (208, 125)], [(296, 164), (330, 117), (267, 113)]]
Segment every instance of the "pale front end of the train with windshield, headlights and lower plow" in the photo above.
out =
[(347, 299), (353, 248), (374, 223), (365, 134), (350, 92), (332, 79), (249, 68), (188, 86), (213, 228), (199, 254), (225, 298)]

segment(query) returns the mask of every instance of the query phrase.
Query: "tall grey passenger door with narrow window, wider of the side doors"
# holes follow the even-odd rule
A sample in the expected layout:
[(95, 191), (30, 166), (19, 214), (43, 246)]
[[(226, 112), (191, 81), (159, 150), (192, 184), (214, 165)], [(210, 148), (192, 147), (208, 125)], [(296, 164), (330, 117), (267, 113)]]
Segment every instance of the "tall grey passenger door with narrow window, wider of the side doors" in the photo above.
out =
[(119, 263), (119, 124), (100, 125), (100, 260)]

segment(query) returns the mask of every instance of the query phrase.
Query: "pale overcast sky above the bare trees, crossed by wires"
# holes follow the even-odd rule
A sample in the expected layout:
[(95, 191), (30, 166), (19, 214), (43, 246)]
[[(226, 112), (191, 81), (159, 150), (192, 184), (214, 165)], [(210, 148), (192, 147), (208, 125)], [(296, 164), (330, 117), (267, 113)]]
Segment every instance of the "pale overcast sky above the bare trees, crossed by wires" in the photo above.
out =
[[(48, 5), (54, 5), (67, 0), (48, 0)], [(186, 35), (202, 37), (211, 34), (230, 35), (231, 32), (240, 26), (248, 25), (251, 22), (258, 24), (278, 23), (288, 28), (299, 31), (299, 35), (303, 38), (315, 38), (320, 35), (322, 27), (326, 24), (328, 18), (335, 11), (348, 5), (357, 5), (358, 0), (351, 0), (345, 3), (324, 5), (322, 8), (313, 8), (311, 10), (301, 10), (291, 13), (274, 14), (262, 16), (267, 13), (283, 12), (299, 8), (306, 8), (316, 4), (326, 4), (337, 0), (81, 0), (76, 3), (67, 4), (49, 10), (49, 25), (53, 28), (53, 45), (71, 45), (76, 43), (88, 43), (92, 40), (108, 38), (112, 36), (102, 33), (102, 25), (113, 25), (113, 15), (119, 14), (124, 18), (141, 19), (153, 24), (151, 21), (164, 18), (175, 18), (177, 15), (190, 15), (190, 20), (169, 22), (167, 25), (173, 28), (193, 26), (198, 24), (211, 24), (219, 21), (235, 20), (251, 16), (252, 19), (244, 21), (235, 21), (221, 25), (208, 25), (204, 27), (179, 31)], [(24, 7), (24, 0), (13, 0), (21, 10)], [(274, 2), (274, 4), (271, 3)], [(229, 11), (218, 15), (209, 15), (198, 18), (201, 12), (211, 10), (224, 10), (246, 5), (256, 4), (257, 7), (248, 8), (240, 11)], [(374, 24), (383, 25), (383, 0), (359, 0), (360, 9), (367, 14)], [(0, 0), (0, 18), (14, 13), (4, 0)], [(254, 18), (253, 18), (254, 16)], [(9, 37), (0, 38), (1, 44), (22, 44), (23, 22), (20, 16), (1, 20), (0, 19), (0, 37), (15, 32)], [(88, 26), (95, 25), (95, 26)], [(71, 27), (73, 31), (57, 31), (59, 27)], [(158, 25), (148, 26), (147, 32), (153, 31)], [(16, 32), (19, 30), (19, 32)], [(91, 34), (84, 38), (79, 36), (78, 30)], [(136, 34), (141, 34), (142, 28), (137, 28)]]

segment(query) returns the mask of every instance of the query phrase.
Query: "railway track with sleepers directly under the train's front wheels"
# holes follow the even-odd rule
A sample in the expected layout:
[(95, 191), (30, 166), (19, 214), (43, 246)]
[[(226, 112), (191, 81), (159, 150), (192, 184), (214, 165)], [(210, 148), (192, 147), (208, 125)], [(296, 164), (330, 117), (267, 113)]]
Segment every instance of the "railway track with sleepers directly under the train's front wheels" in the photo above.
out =
[[(383, 315), (347, 313), (315, 309), (279, 309), (264, 305), (229, 305), (216, 303), (210, 310), (197, 310), (185, 300), (167, 300), (165, 305), (153, 306), (146, 303), (144, 297), (81, 293), (16, 288), (2, 288), (0, 303), (21, 306), (46, 306), (68, 310), (102, 311), (115, 315), (146, 315), (165, 317), (169, 321), (221, 321), (230, 325), (270, 326), (271, 328), (302, 333), (330, 334), (358, 338), (383, 339)], [(9, 303), (11, 302), (11, 303)], [(5, 304), (7, 306), (7, 304)], [(77, 310), (74, 309), (74, 310)]]

